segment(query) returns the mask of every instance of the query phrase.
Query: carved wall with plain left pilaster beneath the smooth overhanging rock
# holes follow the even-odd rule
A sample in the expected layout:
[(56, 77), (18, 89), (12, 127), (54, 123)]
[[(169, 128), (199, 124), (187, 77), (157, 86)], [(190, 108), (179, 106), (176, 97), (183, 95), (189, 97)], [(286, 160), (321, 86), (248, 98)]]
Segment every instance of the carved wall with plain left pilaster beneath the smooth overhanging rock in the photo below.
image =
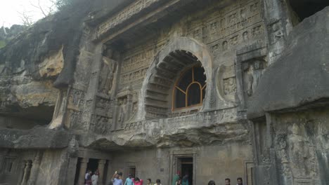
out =
[(271, 114), (254, 122), (257, 169), (272, 169), (257, 183), (278, 177), (278, 184), (325, 184), (328, 177), (328, 109)]

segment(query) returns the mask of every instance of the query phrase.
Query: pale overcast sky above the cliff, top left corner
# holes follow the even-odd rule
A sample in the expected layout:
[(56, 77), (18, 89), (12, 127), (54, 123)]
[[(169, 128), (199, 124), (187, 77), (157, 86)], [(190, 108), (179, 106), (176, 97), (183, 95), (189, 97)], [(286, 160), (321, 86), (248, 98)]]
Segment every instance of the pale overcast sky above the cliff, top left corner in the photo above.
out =
[[(0, 27), (11, 27), (11, 25), (22, 25), (20, 13), (30, 15), (35, 22), (44, 17), (41, 11), (34, 6), (38, 6), (38, 1), (46, 11), (49, 10), (51, 2), (49, 0), (0, 0)], [(32, 6), (32, 4), (34, 6)]]

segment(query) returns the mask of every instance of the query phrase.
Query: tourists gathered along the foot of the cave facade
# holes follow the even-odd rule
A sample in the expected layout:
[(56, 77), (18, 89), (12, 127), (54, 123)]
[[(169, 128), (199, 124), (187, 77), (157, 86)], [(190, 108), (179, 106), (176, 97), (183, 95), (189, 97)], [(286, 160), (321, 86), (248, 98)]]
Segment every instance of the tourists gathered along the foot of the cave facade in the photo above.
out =
[[(86, 185), (98, 185), (98, 170), (91, 175), (91, 170), (87, 170), (86, 175), (84, 176)], [(241, 177), (238, 177), (236, 179), (237, 185), (243, 185), (243, 179)], [(188, 185), (188, 174), (185, 174), (183, 177), (181, 177), (181, 173), (177, 172), (174, 177), (172, 178), (172, 184), (171, 185)], [(143, 185), (143, 179), (139, 179), (138, 177), (133, 177), (132, 174), (129, 174), (127, 179), (122, 181), (122, 172), (115, 172), (113, 174), (112, 180), (110, 181), (109, 185)], [(155, 181), (155, 184), (152, 183), (151, 179), (146, 180), (146, 185), (162, 185), (161, 180), (157, 179)], [(216, 185), (215, 181), (211, 180), (208, 182), (208, 185)], [(225, 179), (225, 185), (231, 185), (231, 179), (226, 178)]]

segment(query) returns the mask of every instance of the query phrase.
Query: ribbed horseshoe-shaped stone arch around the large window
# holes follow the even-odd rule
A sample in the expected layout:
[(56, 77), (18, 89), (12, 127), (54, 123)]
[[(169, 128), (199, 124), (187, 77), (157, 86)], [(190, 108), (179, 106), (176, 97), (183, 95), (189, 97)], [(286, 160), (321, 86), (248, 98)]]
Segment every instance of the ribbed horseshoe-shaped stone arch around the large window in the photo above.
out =
[[(209, 107), (212, 85), (212, 57), (205, 44), (187, 37), (176, 37), (157, 53), (144, 78), (138, 104), (137, 120), (168, 118), (173, 107), (174, 86), (184, 70), (201, 67), (207, 85), (201, 85), (198, 111)], [(198, 83), (189, 84), (197, 89)], [(186, 97), (189, 98), (188, 96)], [(187, 100), (188, 101), (188, 100)], [(194, 100), (193, 100), (194, 101)], [(196, 101), (196, 100), (195, 100)], [(192, 102), (191, 104), (195, 104)], [(189, 106), (188, 106), (189, 107)], [(193, 106), (190, 106), (193, 107)]]

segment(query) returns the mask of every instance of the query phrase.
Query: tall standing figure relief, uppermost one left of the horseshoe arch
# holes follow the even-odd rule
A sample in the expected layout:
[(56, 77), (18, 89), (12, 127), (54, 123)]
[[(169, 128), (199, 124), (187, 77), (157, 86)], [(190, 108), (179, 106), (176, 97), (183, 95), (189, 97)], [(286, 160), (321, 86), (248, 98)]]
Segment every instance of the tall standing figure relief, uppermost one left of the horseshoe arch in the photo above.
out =
[(98, 82), (98, 91), (105, 95), (109, 95), (112, 86), (113, 79), (115, 78), (115, 73), (117, 71), (117, 62), (111, 60), (108, 57), (103, 57), (103, 62), (101, 65), (101, 75)]

